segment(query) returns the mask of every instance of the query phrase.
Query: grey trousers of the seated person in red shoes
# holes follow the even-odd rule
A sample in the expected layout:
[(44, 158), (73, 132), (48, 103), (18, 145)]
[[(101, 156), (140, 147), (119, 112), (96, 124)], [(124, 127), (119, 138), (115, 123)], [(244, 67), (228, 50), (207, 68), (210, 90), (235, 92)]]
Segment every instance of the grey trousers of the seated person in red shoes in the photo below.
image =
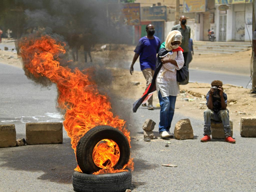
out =
[(222, 121), (225, 137), (230, 136), (230, 125), (229, 125), (229, 111), (227, 109), (220, 110), (218, 113), (207, 109), (204, 111), (204, 135), (211, 135), (211, 119), (215, 121)]

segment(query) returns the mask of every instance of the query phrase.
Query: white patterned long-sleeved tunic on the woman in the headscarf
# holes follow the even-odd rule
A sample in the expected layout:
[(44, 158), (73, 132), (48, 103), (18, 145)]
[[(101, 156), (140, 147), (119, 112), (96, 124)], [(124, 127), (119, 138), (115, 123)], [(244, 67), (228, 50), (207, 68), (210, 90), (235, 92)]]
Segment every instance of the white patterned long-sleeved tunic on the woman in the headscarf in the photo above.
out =
[[(172, 58), (173, 56), (168, 54), (165, 57)], [(178, 51), (174, 60), (176, 60), (178, 67), (172, 63), (165, 63), (156, 77), (156, 90), (157, 93), (158, 91), (161, 92), (162, 97), (177, 96), (180, 92), (179, 83), (177, 82), (177, 70), (180, 70), (184, 65), (182, 51)]]

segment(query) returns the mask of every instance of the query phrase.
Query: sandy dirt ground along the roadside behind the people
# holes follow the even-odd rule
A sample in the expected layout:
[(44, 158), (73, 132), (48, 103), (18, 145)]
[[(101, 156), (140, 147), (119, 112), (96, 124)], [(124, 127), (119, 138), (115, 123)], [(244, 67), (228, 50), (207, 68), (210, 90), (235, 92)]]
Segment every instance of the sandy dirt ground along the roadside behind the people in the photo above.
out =
[[(13, 43), (14, 42), (11, 42), (10, 44)], [(113, 50), (111, 51), (108, 48), (102, 50), (100, 48), (101, 46), (102, 45), (96, 45), (93, 48), (93, 58), (100, 55), (100, 57), (105, 58), (131, 61), (134, 55), (133, 50), (135, 46), (112, 46)], [(108, 46), (109, 45), (107, 45), (107, 47)], [(237, 54), (199, 55), (195, 53), (193, 61), (190, 63), (190, 68), (250, 75), (250, 59), (251, 50), (239, 52)], [(97, 59), (95, 62), (97, 62)], [(0, 50), (0, 63), (22, 68), (22, 64), (17, 58), (15, 51)], [(129, 70), (126, 69), (110, 69), (113, 77), (111, 85), (113, 93), (122, 93), (122, 95), (126, 95), (127, 98), (134, 101), (141, 97), (146, 86), (146, 81), (142, 72), (134, 71), (134, 74), (131, 75)], [(233, 129), (239, 130), (240, 119), (242, 116), (256, 116), (256, 94), (252, 94), (249, 89), (229, 84), (224, 84), (223, 88), (228, 96), (228, 109), (230, 111), (230, 119), (233, 120)], [(205, 96), (209, 90), (210, 84), (207, 83), (188, 83), (185, 86), (180, 86), (180, 94), (177, 96), (175, 107), (176, 112), (182, 113), (185, 116), (200, 119), (203, 124), (203, 113), (204, 110), (207, 109)], [(153, 97), (154, 107), (159, 107), (156, 93), (154, 93)]]

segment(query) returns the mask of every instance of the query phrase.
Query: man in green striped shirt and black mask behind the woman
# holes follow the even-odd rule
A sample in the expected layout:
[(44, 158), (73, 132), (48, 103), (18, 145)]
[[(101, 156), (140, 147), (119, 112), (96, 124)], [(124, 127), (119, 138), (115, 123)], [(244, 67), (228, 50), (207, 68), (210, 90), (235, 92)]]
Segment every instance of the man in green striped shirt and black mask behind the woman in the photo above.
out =
[(182, 15), (179, 20), (180, 20), (180, 24), (175, 25), (172, 28), (172, 31), (178, 30), (182, 34), (182, 43), (180, 47), (184, 50), (183, 57), (184, 57), (184, 62), (186, 63), (187, 57), (188, 57), (188, 40), (190, 38), (191, 29), (189, 26), (186, 25), (187, 18), (184, 15)]

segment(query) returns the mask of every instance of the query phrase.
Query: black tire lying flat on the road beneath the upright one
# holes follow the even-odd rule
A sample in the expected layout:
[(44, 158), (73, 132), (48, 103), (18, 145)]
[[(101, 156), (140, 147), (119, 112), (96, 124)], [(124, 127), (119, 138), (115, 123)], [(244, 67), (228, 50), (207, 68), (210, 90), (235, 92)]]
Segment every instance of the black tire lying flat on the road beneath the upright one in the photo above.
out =
[(74, 191), (123, 192), (131, 188), (132, 174), (128, 172), (88, 175), (75, 171), (72, 175)]

